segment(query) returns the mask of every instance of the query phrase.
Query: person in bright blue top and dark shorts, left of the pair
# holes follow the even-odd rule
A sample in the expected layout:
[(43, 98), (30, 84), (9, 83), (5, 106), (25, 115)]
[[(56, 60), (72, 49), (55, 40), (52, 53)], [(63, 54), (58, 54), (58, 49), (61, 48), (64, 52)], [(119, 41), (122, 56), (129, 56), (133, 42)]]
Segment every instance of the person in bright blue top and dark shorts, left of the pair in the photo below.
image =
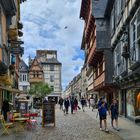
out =
[(102, 121), (104, 121), (105, 131), (108, 132), (107, 129), (107, 103), (105, 102), (104, 98), (100, 98), (98, 102), (98, 111), (99, 111), (99, 119), (100, 119), (100, 130), (103, 130)]

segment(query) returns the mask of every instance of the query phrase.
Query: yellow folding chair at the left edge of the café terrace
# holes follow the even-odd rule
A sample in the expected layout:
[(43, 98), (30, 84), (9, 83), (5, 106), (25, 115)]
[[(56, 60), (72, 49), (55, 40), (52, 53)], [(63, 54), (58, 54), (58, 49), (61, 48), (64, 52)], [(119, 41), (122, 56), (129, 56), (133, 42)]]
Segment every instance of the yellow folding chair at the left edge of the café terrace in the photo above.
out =
[(7, 123), (4, 120), (4, 117), (0, 115), (0, 121), (2, 124), (2, 134), (9, 134), (9, 128), (13, 127), (13, 123)]

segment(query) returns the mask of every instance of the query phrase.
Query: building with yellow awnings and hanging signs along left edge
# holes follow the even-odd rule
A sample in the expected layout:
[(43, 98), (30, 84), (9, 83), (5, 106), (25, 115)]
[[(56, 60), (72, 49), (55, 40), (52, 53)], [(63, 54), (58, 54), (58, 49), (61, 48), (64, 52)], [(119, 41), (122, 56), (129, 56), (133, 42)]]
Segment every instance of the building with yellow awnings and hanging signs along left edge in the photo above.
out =
[[(0, 1), (0, 106), (6, 98), (13, 104), (19, 93), (19, 62), (24, 53), (19, 38), (23, 35), (20, 22), (20, 4), (23, 0)], [(15, 50), (16, 48), (16, 50)]]

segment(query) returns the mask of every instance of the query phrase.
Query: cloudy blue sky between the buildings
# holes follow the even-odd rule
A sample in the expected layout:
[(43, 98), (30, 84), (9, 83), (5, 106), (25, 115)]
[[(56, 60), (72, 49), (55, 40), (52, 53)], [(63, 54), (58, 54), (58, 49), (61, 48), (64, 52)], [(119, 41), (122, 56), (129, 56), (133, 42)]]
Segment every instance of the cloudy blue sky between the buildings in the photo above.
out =
[(81, 0), (27, 0), (21, 4), (23, 59), (27, 63), (28, 56), (34, 58), (37, 49), (57, 50), (63, 89), (83, 65), (80, 6)]

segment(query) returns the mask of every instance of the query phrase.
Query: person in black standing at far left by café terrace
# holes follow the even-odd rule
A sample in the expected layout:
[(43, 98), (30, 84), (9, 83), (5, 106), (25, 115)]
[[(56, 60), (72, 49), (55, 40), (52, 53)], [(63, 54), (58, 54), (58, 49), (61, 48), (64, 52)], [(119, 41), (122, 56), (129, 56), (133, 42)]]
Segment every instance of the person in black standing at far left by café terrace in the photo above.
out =
[(2, 104), (1, 114), (4, 116), (4, 120), (7, 121), (8, 112), (10, 111), (8, 100), (4, 100)]

